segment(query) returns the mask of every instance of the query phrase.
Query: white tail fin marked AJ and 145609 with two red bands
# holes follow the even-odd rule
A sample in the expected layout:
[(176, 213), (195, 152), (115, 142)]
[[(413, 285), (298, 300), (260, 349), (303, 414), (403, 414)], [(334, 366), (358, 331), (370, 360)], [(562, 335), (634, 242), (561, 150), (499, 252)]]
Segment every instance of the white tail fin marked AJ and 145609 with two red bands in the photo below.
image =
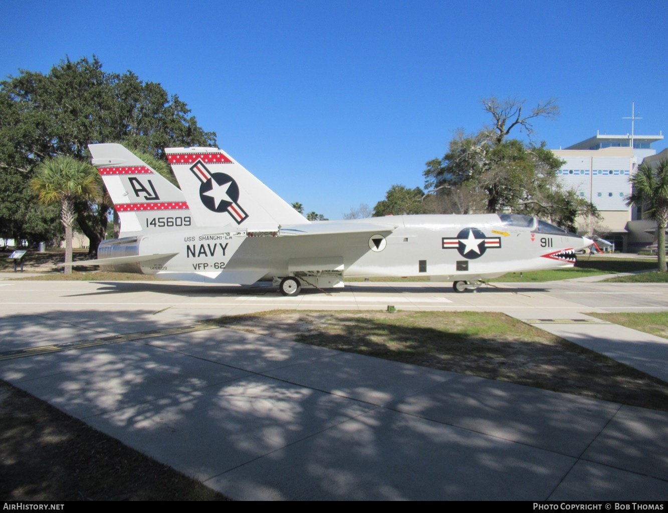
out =
[(121, 144), (89, 144), (121, 221), (122, 236), (195, 226), (183, 192)]

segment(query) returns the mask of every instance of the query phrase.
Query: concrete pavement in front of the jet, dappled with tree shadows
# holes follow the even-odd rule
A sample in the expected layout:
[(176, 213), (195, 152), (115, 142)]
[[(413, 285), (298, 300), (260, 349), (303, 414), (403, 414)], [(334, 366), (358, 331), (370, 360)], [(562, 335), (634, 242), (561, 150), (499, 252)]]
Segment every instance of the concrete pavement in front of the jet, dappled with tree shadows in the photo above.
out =
[(355, 283), (284, 298), (0, 282), (0, 377), (238, 499), (665, 500), (667, 413), (198, 324), (270, 308), (494, 310), (570, 319), (536, 325), (665, 361), (664, 339), (576, 323), (625, 303), (668, 309), (666, 287), (624, 285)]

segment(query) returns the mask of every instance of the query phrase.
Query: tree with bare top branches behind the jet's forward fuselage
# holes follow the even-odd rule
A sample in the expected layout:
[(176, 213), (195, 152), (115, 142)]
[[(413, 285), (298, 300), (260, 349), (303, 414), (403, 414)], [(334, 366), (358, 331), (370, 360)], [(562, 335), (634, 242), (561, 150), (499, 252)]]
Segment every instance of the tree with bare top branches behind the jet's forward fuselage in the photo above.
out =
[(483, 109), (492, 116), (492, 126), (470, 135), (459, 130), (444, 157), (426, 163), (425, 186), (430, 196), (424, 204), (430, 212), (512, 210), (558, 220), (563, 228), (573, 229), (576, 217), (591, 210), (589, 202), (560, 186), (556, 171), (562, 160), (544, 142), (507, 138), (513, 129), (531, 138), (531, 120), (558, 115), (552, 98), (524, 116), (523, 105), (524, 101), (514, 98), (482, 100)]

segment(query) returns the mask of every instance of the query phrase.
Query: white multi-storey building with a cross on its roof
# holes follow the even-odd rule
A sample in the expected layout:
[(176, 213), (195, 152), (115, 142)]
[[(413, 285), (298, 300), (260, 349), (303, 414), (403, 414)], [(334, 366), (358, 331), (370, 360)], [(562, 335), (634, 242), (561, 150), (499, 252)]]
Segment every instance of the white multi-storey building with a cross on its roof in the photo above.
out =
[(645, 232), (651, 222), (642, 220), (640, 210), (626, 206), (625, 197), (631, 194), (629, 178), (643, 159), (668, 158), (668, 150), (657, 154), (651, 148), (660, 140), (663, 135), (597, 134), (564, 150), (552, 150), (566, 161), (558, 171), (564, 185), (595, 204), (602, 216), (600, 221), (583, 219), (582, 232), (599, 234), (614, 242), (616, 249), (629, 252), (652, 243)]

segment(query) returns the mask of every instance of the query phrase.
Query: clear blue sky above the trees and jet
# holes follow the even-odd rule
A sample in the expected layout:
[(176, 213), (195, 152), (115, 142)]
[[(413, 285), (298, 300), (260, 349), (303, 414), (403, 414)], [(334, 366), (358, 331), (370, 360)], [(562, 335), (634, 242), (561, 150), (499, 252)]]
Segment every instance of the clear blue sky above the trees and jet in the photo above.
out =
[[(218, 146), (331, 219), (424, 186), (480, 100), (558, 99), (549, 148), (668, 130), (663, 1), (0, 0), (0, 74), (95, 54), (178, 94)], [(519, 136), (520, 134), (516, 134)], [(662, 150), (668, 144), (655, 144)]]

